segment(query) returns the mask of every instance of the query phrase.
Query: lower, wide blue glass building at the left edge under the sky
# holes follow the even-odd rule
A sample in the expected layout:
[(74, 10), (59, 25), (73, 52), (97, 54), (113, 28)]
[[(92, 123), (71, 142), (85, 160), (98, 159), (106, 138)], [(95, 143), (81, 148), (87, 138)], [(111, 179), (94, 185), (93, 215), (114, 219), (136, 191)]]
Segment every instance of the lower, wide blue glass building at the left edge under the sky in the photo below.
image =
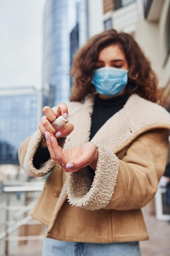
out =
[(0, 164), (18, 164), (18, 148), (38, 129), (42, 91), (0, 89)]

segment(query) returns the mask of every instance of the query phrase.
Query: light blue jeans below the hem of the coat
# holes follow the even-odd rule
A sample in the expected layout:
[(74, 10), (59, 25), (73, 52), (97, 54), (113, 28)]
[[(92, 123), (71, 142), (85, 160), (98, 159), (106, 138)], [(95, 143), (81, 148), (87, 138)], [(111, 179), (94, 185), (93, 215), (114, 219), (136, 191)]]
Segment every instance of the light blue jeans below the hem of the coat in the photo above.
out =
[(42, 256), (141, 256), (139, 242), (74, 243), (44, 238)]

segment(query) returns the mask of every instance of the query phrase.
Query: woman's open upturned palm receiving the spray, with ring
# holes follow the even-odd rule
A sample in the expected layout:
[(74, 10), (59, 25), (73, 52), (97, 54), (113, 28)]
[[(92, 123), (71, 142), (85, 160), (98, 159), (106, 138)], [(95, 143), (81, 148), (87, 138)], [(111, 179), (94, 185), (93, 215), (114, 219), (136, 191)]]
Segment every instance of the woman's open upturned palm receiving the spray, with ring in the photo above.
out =
[(45, 132), (46, 144), (51, 158), (66, 172), (76, 172), (79, 169), (90, 166), (96, 168), (98, 151), (95, 144), (87, 142), (84, 145), (71, 149), (63, 149), (58, 145), (57, 139), (50, 132)]

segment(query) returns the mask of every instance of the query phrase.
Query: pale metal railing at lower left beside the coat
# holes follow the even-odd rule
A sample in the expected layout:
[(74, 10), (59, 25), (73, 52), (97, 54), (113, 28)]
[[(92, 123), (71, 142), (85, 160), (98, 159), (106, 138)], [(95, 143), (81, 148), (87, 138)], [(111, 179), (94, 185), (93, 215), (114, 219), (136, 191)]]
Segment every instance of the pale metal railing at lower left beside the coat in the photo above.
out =
[[(38, 192), (42, 191), (44, 182), (24, 182), (22, 186), (5, 186), (3, 191), (8, 192)], [(33, 196), (32, 196), (33, 199)], [(28, 240), (42, 240), (43, 235), (32, 235), (32, 236), (9, 236), (13, 231), (19, 229), (23, 225), (39, 225), (41, 224), (37, 220), (33, 220), (31, 216), (27, 216), (28, 211), (30, 211), (34, 205), (34, 201), (29, 203), (28, 198), (25, 196), (24, 205), (9, 205), (9, 196), (7, 196), (6, 206), (1, 207), (0, 211), (5, 211), (5, 221), (0, 222), (0, 227), (4, 226), (5, 231), (0, 234), (0, 242), (4, 241), (4, 255), (9, 255), (9, 241), (28, 241)], [(9, 220), (10, 212), (17, 211), (13, 214), (13, 220)], [(18, 220), (18, 218), (22, 218)], [(10, 227), (11, 226), (11, 227)]]

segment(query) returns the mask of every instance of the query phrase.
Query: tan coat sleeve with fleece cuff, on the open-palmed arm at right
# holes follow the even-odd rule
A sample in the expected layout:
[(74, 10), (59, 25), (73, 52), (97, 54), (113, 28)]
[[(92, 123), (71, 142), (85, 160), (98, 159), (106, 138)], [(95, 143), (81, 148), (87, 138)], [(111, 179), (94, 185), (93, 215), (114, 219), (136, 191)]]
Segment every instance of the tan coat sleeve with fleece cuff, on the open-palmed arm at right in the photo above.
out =
[(97, 145), (94, 178), (87, 169), (71, 173), (70, 204), (89, 210), (130, 210), (144, 207), (157, 191), (168, 156), (168, 130), (155, 129), (137, 137), (122, 159)]

